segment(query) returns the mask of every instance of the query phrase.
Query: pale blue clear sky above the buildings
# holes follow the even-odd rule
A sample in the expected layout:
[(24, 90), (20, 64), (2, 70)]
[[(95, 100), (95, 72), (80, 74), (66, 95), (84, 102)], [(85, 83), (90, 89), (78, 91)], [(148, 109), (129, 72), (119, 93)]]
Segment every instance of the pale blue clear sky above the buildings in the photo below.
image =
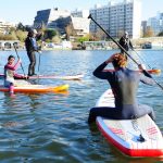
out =
[[(163, 0), (141, 0), (142, 20), (163, 12)], [(150, 1), (150, 2), (149, 2)], [(90, 9), (96, 3), (106, 4), (109, 0), (1, 0), (0, 20), (32, 25), (38, 10), (60, 8), (74, 11), (75, 9)]]

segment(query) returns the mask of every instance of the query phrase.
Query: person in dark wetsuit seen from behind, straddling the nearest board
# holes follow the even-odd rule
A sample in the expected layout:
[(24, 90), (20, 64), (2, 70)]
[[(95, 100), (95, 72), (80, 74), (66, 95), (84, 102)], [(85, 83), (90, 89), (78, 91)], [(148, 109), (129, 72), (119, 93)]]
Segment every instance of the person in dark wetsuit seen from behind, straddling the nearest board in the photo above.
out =
[[(112, 63), (115, 71), (104, 72), (104, 67)], [(89, 112), (88, 123), (96, 121), (97, 116), (113, 118), (113, 120), (130, 120), (149, 114), (152, 120), (155, 118), (152, 108), (138, 104), (136, 93), (139, 82), (148, 85), (154, 85), (151, 76), (142, 70), (131, 71), (126, 67), (127, 59), (121, 53), (113, 54), (110, 59), (99, 65), (93, 75), (100, 79), (106, 79), (115, 98), (115, 108), (101, 106), (92, 108)]]

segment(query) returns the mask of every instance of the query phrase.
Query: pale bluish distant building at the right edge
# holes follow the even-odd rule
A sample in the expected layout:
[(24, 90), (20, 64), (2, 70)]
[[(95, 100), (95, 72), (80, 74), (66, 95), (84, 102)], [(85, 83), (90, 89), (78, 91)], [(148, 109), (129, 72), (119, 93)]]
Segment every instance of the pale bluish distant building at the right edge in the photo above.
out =
[(147, 22), (147, 26), (152, 28), (154, 36), (163, 32), (163, 13), (158, 13), (155, 17), (150, 17)]

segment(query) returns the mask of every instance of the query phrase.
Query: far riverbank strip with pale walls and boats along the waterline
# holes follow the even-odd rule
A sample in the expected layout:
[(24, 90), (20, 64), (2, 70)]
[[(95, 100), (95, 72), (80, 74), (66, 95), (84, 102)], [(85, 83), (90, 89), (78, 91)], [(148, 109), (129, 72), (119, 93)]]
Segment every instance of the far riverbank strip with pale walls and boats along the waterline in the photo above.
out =
[[(14, 50), (13, 42), (14, 41), (3, 41), (3, 47), (0, 46), (0, 50), (11, 51)], [(17, 40), (15, 40), (17, 41)], [(118, 40), (116, 40), (118, 41)], [(148, 37), (148, 38), (138, 38), (131, 39), (133, 46), (135, 49), (142, 49), (147, 43), (151, 45), (151, 49), (161, 50), (163, 49), (163, 37)], [(4, 47), (4, 45), (8, 45)], [(18, 50), (24, 50), (23, 42), (16, 42)], [(54, 45), (54, 43), (47, 43), (42, 47), (42, 50), (46, 51), (55, 51), (55, 50), (112, 50), (118, 49), (117, 46), (113, 41), (84, 41), (83, 43), (79, 42), (70, 42), (63, 41), (62, 45)]]

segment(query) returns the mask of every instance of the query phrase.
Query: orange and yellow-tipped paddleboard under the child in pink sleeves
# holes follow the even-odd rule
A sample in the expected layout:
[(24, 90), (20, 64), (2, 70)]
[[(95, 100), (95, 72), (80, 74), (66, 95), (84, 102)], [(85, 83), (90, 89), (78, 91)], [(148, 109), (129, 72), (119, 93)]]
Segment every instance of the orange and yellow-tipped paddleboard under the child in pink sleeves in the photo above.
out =
[[(45, 86), (45, 85), (21, 85), (14, 87), (14, 92), (43, 93), (43, 92), (61, 92), (68, 89), (68, 85)], [(9, 88), (0, 86), (0, 91), (9, 91)]]

